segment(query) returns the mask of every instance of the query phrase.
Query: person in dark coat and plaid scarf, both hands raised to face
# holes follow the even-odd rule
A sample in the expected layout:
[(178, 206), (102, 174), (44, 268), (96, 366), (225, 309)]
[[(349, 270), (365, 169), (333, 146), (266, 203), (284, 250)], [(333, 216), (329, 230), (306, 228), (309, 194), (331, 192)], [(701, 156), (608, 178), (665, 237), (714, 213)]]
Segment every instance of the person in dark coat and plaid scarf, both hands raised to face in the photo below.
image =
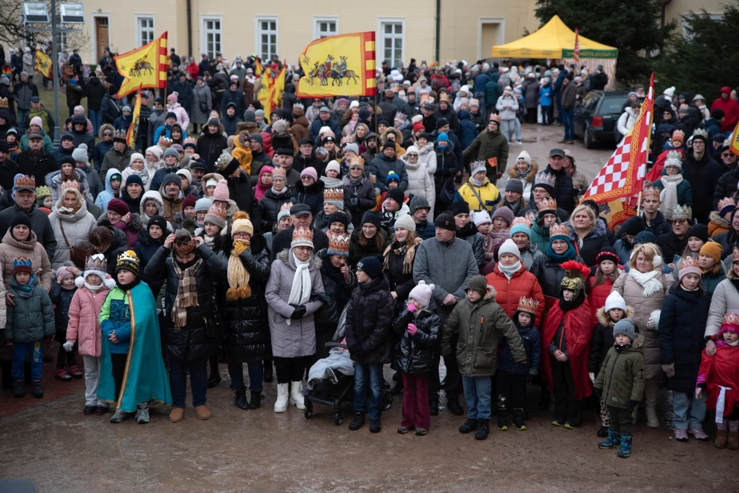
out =
[[(216, 255), (202, 238), (192, 238), (187, 230), (177, 230), (164, 241), (163, 247), (146, 265), (143, 275), (148, 278), (166, 277), (164, 297), (165, 323), (162, 331), (169, 354), (169, 382), (172, 390), (170, 421), (182, 421), (185, 413), (185, 387), (190, 372), (192, 404), (200, 419), (211, 412), (205, 407), (208, 392), (208, 357), (217, 351), (215, 334), (211, 331), (214, 317), (214, 286), (226, 277), (228, 261)], [(182, 273), (182, 275), (180, 275)], [(177, 308), (182, 276), (194, 281), (197, 299), (188, 308)], [(190, 286), (192, 289), (192, 286)]]

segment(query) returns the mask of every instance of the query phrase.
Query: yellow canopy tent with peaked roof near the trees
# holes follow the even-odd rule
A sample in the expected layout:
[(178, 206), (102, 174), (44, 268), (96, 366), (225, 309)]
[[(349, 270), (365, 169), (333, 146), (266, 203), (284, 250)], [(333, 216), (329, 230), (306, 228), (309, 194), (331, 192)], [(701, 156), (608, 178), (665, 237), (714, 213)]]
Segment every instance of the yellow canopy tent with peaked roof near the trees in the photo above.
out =
[[(613, 46), (597, 43), (584, 36), (579, 36), (580, 61), (587, 66), (590, 73), (603, 66), (608, 75), (608, 87), (613, 88), (616, 79), (616, 57), (619, 50)], [(562, 22), (559, 15), (554, 15), (548, 23), (537, 32), (533, 32), (517, 41), (493, 46), (491, 58), (550, 58), (561, 59), (565, 65), (575, 63), (575, 32)]]

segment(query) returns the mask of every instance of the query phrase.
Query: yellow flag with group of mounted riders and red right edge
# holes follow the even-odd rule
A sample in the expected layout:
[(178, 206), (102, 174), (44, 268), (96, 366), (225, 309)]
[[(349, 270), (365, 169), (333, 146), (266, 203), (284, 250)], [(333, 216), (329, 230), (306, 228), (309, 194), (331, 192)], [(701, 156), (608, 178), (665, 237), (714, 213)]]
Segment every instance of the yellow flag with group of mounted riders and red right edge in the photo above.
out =
[(374, 96), (375, 32), (316, 39), (300, 55), (298, 97)]

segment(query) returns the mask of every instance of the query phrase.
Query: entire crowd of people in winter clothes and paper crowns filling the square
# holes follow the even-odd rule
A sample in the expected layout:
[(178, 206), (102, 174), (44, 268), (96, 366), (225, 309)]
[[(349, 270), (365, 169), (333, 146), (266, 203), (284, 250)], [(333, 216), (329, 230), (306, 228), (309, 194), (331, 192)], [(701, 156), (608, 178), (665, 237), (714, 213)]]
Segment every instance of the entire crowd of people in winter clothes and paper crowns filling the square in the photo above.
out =
[[(726, 144), (712, 158), (710, 118), (664, 132), (641, 213), (616, 236), (579, 200), (588, 180), (573, 151), (551, 149), (545, 166), (527, 151), (508, 159), (523, 117), (554, 114), (547, 94), (517, 88), (551, 76), (599, 89), (600, 74), (384, 63), (376, 104), (298, 100), (288, 83), (267, 115), (244, 91), (253, 59), (206, 58), (180, 74), (173, 63), (180, 90), (166, 106), (142, 94), (136, 148), (130, 107), (100, 125), (99, 142), (94, 110), (70, 108), (57, 149), (49, 115), (18, 139), (22, 125), (0, 109), (0, 364), (15, 396), (26, 379), (43, 396), (49, 349), (56, 379), (85, 379), (84, 414), (110, 409), (114, 423), (148, 422), (154, 402), (183, 421), (188, 376), (197, 418), (210, 418), (219, 363), (243, 410), (261, 407), (276, 377), (275, 413), (350, 375), (350, 430), (367, 417), (380, 432), (389, 364), (399, 433), (429, 431), (442, 387), (450, 413), (466, 404), (460, 432), (484, 440), (492, 416), (498, 430), (525, 430), (535, 385), (551, 424), (574, 429), (596, 407), (599, 447), (628, 457), (639, 407), (658, 427), (666, 385), (678, 441), (708, 440), (711, 410), (716, 446), (739, 448), (739, 168)], [(227, 75), (213, 92), (208, 77)], [(190, 92), (174, 86), (183, 77), (196, 77)], [(570, 96), (554, 87), (566, 128)], [(684, 103), (670, 91), (655, 103), (664, 119)], [(735, 93), (714, 106), (726, 135)]]

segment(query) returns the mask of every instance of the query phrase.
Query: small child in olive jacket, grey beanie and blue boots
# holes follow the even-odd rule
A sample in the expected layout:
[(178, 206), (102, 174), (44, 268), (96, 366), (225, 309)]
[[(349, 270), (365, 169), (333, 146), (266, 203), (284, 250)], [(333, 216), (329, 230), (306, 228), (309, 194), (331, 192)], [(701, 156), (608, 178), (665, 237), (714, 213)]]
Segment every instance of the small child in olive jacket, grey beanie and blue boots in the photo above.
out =
[(610, 416), (608, 438), (598, 447), (611, 449), (620, 444), (621, 458), (631, 455), (633, 411), (644, 394), (644, 354), (632, 347), (634, 336), (634, 321), (630, 318), (613, 325), (613, 348), (605, 355), (593, 383), (596, 396), (605, 404)]

